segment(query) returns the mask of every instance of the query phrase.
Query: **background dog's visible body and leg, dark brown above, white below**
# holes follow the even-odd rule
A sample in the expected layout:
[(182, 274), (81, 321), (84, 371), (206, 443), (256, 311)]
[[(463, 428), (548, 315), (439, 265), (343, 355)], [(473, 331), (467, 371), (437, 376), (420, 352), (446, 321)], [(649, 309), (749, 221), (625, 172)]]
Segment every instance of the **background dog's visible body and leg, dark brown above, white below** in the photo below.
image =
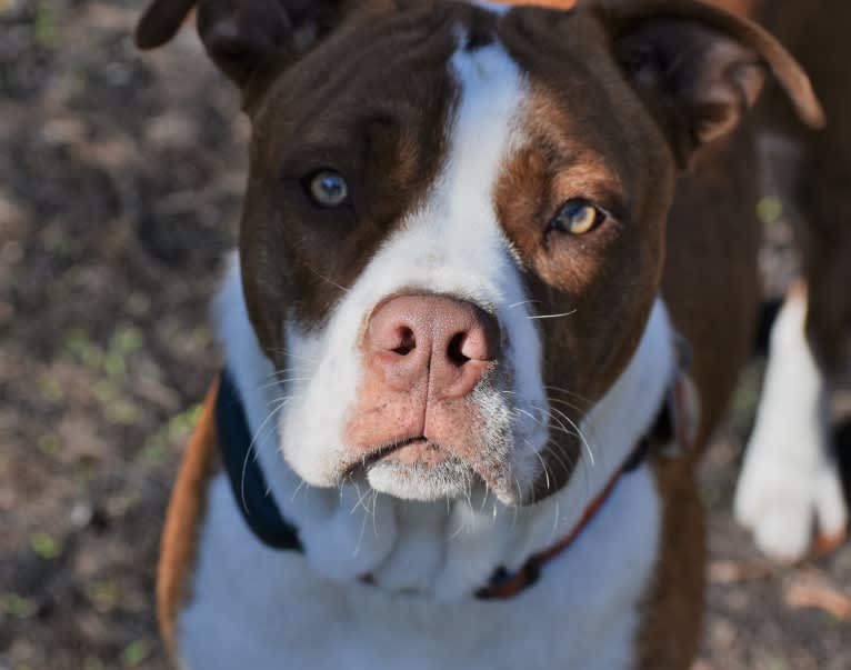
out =
[(829, 1), (729, 2), (774, 32), (812, 77), (829, 122), (801, 126), (782, 93), (759, 110), (760, 159), (794, 226), (803, 281), (774, 327), (757, 423), (745, 453), (737, 518), (760, 549), (792, 561), (845, 537), (848, 509), (831, 443), (831, 400), (851, 361), (851, 63), (841, 57), (851, 8)]

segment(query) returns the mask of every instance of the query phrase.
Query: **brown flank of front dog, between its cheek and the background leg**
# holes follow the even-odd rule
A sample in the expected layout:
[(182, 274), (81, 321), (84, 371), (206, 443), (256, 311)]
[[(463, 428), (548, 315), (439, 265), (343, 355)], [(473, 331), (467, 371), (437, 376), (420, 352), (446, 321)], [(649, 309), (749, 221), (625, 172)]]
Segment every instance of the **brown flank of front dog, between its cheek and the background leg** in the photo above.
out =
[(758, 192), (752, 129), (742, 128), (707, 148), (680, 179), (669, 219), (662, 291), (674, 326), (693, 351), (690, 374), (701, 399), (699, 449), (723, 417), (750, 353), (759, 303)]

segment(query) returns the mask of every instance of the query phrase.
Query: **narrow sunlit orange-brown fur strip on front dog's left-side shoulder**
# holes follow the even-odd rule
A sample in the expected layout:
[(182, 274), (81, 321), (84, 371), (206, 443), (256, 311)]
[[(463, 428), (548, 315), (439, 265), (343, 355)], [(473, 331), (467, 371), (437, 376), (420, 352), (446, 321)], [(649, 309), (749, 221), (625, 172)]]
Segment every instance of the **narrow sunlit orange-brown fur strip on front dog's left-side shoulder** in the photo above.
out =
[(189, 582), (207, 510), (207, 491), (210, 479), (219, 470), (214, 412), (218, 392), (217, 380), (207, 393), (201, 419), (183, 453), (162, 530), (157, 570), (157, 618), (166, 646), (172, 652), (174, 624), (191, 596)]

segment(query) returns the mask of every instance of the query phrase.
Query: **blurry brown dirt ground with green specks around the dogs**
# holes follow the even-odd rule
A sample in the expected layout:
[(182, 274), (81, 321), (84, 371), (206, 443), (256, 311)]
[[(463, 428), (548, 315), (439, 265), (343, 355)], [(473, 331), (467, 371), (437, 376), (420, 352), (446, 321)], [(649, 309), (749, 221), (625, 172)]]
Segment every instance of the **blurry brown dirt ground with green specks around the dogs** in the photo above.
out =
[[(158, 536), (219, 364), (247, 128), (191, 32), (136, 52), (140, 4), (0, 0), (0, 670), (167, 667)], [(757, 383), (705, 468), (695, 670), (848, 670), (851, 547), (775, 568), (730, 517)]]

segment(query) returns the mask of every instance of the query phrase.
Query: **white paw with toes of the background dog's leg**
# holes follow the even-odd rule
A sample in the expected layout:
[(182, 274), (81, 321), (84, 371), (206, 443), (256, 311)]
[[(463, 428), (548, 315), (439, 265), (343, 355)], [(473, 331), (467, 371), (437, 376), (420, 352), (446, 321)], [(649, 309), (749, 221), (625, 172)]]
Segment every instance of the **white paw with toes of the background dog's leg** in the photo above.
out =
[[(821, 444), (809, 447), (813, 451)], [(773, 451), (773, 453), (772, 453)], [(818, 533), (845, 532), (848, 509), (832, 462), (810, 468), (785, 461), (784, 450), (753, 444), (735, 491), (735, 519), (753, 532), (759, 549), (773, 560), (802, 559)]]

